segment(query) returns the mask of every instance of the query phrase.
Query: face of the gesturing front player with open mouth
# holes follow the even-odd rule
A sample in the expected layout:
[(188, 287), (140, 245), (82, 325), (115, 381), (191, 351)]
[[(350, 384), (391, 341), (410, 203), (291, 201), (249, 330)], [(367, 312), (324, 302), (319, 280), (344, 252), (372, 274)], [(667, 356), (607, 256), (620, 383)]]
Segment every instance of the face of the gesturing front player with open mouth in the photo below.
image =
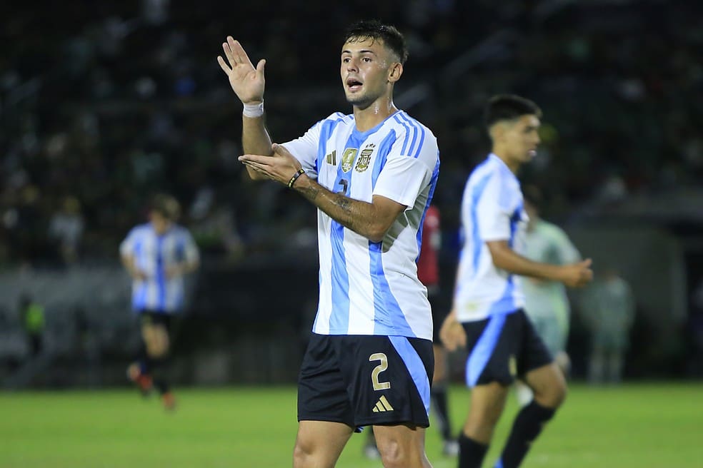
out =
[(379, 39), (352, 38), (341, 49), (341, 83), (346, 101), (353, 106), (367, 108), (390, 93), (399, 73), (402, 65)]

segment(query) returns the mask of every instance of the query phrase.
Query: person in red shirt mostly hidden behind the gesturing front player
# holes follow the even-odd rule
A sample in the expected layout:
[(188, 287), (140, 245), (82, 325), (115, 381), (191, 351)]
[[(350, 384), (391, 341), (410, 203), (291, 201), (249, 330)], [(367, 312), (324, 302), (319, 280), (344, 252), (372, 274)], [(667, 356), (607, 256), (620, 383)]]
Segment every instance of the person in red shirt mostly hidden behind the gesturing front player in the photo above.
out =
[[(436, 415), (439, 434), (442, 436), (442, 453), (456, 456), (459, 453), (459, 444), (452, 437), (447, 399), (447, 352), (444, 350), (442, 341), (439, 340), (439, 326), (447, 317), (447, 310), (444, 309), (439, 291), (439, 248), (442, 245), (439, 220), (439, 208), (436, 205), (430, 205), (422, 223), (422, 248), (417, 259), (417, 278), (427, 287), (427, 297), (432, 305), (434, 376), (429, 400)], [(380, 457), (372, 431), (369, 431), (364, 455), (369, 459)]]

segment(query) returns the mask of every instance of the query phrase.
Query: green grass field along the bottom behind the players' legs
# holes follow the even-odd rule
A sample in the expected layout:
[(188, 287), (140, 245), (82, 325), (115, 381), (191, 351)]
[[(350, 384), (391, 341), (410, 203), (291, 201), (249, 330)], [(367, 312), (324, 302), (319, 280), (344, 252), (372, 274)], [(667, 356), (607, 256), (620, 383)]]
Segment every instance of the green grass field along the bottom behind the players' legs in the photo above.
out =
[[(290, 467), (296, 432), (293, 387), (177, 393), (169, 414), (136, 391), (0, 393), (1, 468)], [(467, 390), (452, 387), (454, 425)], [(516, 412), (510, 402), (484, 466), (492, 466)], [(337, 464), (381, 467), (355, 434)], [(435, 468), (455, 467), (427, 433)], [(703, 467), (703, 385), (572, 385), (524, 467)]]

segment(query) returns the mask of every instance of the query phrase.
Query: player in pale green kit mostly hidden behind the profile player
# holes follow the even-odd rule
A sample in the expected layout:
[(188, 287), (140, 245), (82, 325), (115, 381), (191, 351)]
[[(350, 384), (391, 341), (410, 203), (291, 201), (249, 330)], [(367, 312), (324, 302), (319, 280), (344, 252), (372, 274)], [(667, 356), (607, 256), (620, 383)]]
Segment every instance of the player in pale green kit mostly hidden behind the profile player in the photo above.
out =
[[(567, 233), (540, 217), (542, 191), (535, 185), (524, 187), (522, 191), (525, 212), (529, 216), (524, 255), (535, 262), (554, 265), (581, 260), (581, 254), (569, 240)], [(522, 289), (525, 294), (525, 312), (532, 320), (534, 330), (542, 338), (559, 369), (567, 375), (570, 360), (566, 347), (571, 307), (564, 283), (525, 278), (522, 281)], [(532, 401), (532, 390), (522, 382), (517, 382), (516, 385), (518, 401), (521, 405), (527, 405)]]

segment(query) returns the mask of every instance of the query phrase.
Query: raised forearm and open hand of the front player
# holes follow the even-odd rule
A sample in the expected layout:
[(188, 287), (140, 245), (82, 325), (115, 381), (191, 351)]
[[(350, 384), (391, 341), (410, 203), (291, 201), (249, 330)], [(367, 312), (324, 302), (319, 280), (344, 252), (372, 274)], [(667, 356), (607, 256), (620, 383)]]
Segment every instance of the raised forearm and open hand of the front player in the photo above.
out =
[[(256, 106), (264, 102), (264, 65), (266, 61), (261, 59), (256, 64), (256, 68), (251, 64), (249, 56), (231, 36), (227, 36), (227, 41), (222, 44), (226, 61), (217, 57), (222, 71), (229, 78), (229, 84), (241, 103), (246, 106)], [(271, 137), (264, 126), (264, 116), (242, 116), (241, 117), (241, 145), (245, 154), (259, 154), (272, 156)], [(246, 166), (246, 172), (254, 180), (265, 179), (264, 175)]]

